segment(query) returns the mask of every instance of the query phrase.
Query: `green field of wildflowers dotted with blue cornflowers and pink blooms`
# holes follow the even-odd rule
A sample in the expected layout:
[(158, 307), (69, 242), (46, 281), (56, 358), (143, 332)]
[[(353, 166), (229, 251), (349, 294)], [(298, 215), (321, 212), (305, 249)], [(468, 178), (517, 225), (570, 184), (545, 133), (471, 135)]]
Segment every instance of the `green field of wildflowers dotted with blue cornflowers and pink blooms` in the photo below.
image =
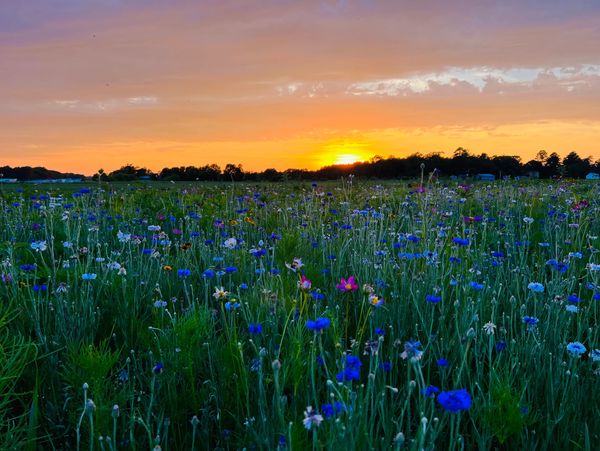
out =
[(598, 184), (1, 196), (3, 449), (600, 443)]

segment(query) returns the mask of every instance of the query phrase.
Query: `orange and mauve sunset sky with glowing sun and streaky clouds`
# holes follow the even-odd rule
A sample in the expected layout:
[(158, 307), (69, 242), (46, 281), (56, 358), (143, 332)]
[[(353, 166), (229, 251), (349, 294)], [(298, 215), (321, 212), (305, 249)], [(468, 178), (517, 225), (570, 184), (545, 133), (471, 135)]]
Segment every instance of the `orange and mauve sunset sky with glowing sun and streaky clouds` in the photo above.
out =
[(600, 158), (600, 1), (0, 2), (0, 165)]

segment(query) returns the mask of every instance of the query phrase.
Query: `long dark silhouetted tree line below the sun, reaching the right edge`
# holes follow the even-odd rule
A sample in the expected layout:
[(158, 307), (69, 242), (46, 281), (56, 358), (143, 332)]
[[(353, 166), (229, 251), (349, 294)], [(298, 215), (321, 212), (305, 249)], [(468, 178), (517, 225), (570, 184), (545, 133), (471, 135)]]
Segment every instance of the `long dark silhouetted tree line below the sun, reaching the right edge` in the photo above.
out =
[(425, 174), (434, 173), (439, 177), (470, 177), (477, 174), (493, 174), (503, 176), (530, 176), (539, 178), (568, 177), (584, 178), (590, 172), (600, 172), (600, 159), (592, 161), (592, 157), (581, 158), (576, 152), (560, 158), (556, 153), (541, 150), (536, 157), (525, 163), (519, 156), (493, 156), (485, 153), (471, 154), (467, 149), (459, 147), (452, 157), (444, 157), (440, 153), (427, 155), (413, 154), (405, 158), (375, 156), (369, 161), (347, 165), (324, 166), (317, 170), (286, 169), (278, 171), (273, 168), (264, 171), (244, 171), (242, 165), (229, 163), (223, 169), (216, 164), (205, 166), (179, 166), (163, 168), (153, 172), (131, 164), (116, 171), (104, 174), (101, 170), (94, 175), (97, 180), (173, 180), (173, 181), (284, 181), (284, 180), (332, 180), (353, 174), (364, 178), (414, 178), (421, 174), (424, 165)]

